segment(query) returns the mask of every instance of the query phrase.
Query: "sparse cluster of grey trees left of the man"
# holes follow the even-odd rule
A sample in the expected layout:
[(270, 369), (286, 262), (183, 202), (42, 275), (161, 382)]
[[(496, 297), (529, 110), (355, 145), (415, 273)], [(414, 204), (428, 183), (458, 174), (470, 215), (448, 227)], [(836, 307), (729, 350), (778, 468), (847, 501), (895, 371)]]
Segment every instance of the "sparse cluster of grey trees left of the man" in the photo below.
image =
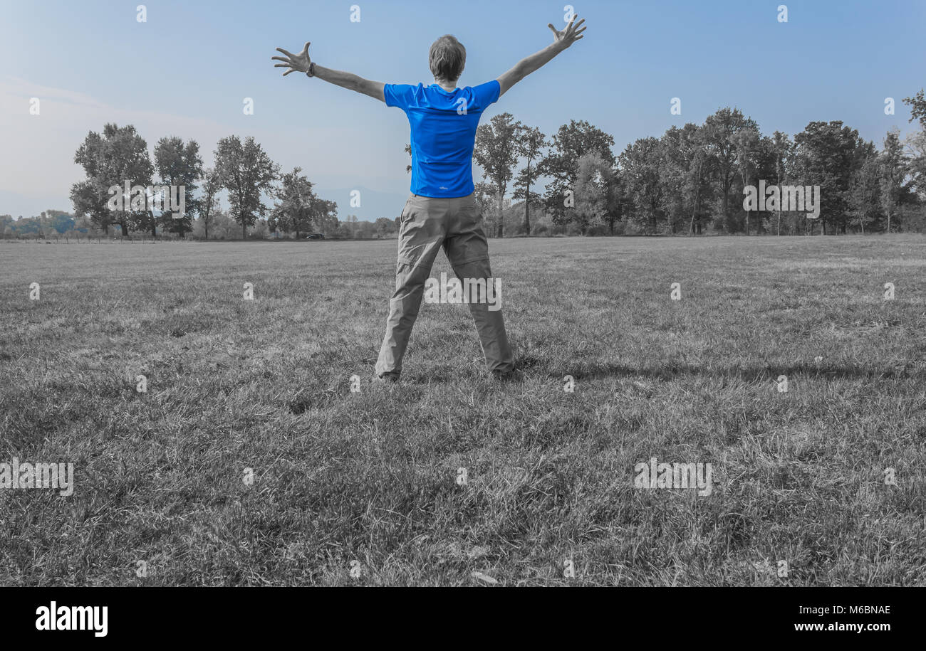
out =
[[(206, 238), (209, 228), (220, 218), (230, 218), (245, 239), (248, 228), (263, 218), (269, 231), (292, 232), (296, 237), (339, 226), (336, 203), (321, 199), (300, 167), (282, 173), (252, 137), (244, 141), (235, 135), (222, 138), (216, 146), (213, 166), (205, 167), (194, 140), (161, 138), (152, 160), (147, 143), (133, 126), (106, 124), (102, 133), (91, 131), (87, 135), (74, 161), (83, 167), (86, 176), (70, 190), (75, 213), (103, 230), (119, 224), (124, 236), (130, 230), (155, 236), (157, 227), (161, 227), (182, 238), (193, 230), (194, 217), (198, 217)], [(112, 187), (121, 189), (125, 181), (139, 189), (182, 186), (186, 209), (178, 215), (153, 209), (150, 202), (127, 200), (122, 210), (113, 210), (109, 203)], [(222, 190), (228, 192), (227, 215), (219, 210)], [(275, 203), (264, 203), (265, 195)]]

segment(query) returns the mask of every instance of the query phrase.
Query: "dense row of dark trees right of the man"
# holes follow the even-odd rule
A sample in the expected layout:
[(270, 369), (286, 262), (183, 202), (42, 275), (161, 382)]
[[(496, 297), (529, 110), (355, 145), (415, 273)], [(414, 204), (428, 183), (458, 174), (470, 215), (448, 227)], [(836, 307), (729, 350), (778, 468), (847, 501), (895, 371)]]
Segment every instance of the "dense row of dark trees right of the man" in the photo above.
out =
[[(614, 138), (570, 120), (548, 140), (539, 129), (494, 116), (476, 132), (476, 186), (496, 237), (532, 235), (531, 211), (562, 232), (586, 234), (803, 234), (926, 229), (926, 100), (904, 99), (920, 130), (879, 149), (842, 121), (814, 121), (794, 138), (763, 135), (737, 108), (701, 125), (640, 138), (615, 156)], [(535, 191), (548, 178), (544, 191)], [(820, 186), (820, 218), (744, 208), (744, 189)], [(508, 199), (508, 192), (510, 199)], [(540, 230), (545, 230), (541, 227)]]

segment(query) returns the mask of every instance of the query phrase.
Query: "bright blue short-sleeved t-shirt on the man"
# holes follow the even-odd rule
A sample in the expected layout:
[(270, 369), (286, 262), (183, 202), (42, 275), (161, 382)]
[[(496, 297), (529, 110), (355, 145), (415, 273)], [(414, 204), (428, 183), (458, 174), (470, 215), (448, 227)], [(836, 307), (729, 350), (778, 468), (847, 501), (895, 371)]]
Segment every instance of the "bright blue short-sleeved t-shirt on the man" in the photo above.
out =
[(387, 83), (387, 106), (411, 125), (411, 191), (423, 197), (465, 197), (472, 184), (472, 149), (482, 111), (498, 101), (497, 80), (446, 92), (436, 83)]

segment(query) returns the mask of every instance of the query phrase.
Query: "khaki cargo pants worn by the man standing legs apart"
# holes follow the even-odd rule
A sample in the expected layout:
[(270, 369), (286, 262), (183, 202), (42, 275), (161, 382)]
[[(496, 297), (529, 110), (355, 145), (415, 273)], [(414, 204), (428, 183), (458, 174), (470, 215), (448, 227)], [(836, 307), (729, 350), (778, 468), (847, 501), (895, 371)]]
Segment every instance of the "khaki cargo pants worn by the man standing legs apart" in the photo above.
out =
[[(376, 362), (377, 375), (401, 373), (425, 281), (431, 276), (432, 264), (442, 247), (460, 281), (484, 278), (488, 283), (492, 278), (489, 244), (482, 232), (482, 211), (472, 194), (452, 199), (412, 194), (400, 221), (395, 292), (389, 301), (386, 336)], [(514, 355), (508, 345), (502, 311), (489, 310), (483, 300), (470, 302), (469, 313), (476, 324), (489, 371), (511, 371)]]

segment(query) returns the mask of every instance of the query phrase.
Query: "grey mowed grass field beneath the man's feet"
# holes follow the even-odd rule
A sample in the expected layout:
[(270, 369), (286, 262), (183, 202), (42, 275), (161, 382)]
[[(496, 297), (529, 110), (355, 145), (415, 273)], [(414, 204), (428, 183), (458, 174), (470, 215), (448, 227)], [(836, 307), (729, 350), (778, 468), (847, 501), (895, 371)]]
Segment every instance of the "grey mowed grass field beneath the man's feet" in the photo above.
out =
[(369, 381), (394, 240), (0, 243), (0, 461), (76, 483), (0, 490), (0, 583), (926, 584), (926, 239), (490, 247), (519, 385), (446, 304)]

